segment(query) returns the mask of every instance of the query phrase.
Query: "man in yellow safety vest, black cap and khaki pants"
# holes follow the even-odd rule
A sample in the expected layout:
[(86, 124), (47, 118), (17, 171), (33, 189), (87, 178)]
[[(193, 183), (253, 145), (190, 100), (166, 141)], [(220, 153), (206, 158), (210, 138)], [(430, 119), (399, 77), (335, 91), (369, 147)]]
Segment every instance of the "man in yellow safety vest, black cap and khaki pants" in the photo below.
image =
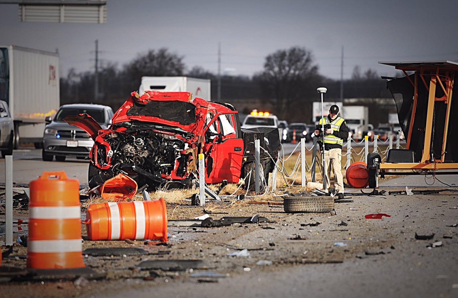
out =
[[(339, 107), (335, 104), (329, 109), (329, 115), (320, 119), (320, 126), (323, 124), (331, 125), (331, 128), (328, 128), (324, 132), (324, 160), (326, 167), (326, 187), (329, 187), (329, 177), (331, 177), (331, 166), (333, 167), (333, 173), (335, 180), (337, 182), (334, 184), (336, 192), (338, 193), (338, 198), (344, 198), (344, 177), (342, 176), (342, 165), (340, 160), (342, 158), (342, 144), (344, 140), (348, 138), (349, 129), (347, 122), (338, 116)], [(323, 150), (323, 140), (322, 135), (320, 135), (320, 130), (315, 130), (315, 136), (319, 137), (318, 141), (320, 144), (320, 149)], [(328, 192), (328, 190), (326, 190)]]

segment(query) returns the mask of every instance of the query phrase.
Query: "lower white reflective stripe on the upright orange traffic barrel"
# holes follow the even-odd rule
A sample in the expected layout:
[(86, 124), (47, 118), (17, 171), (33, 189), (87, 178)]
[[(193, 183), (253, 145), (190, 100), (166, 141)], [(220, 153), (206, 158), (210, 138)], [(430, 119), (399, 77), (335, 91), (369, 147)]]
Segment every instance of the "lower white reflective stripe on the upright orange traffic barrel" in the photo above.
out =
[(27, 252), (33, 253), (69, 253), (82, 252), (82, 239), (69, 240), (28, 240)]

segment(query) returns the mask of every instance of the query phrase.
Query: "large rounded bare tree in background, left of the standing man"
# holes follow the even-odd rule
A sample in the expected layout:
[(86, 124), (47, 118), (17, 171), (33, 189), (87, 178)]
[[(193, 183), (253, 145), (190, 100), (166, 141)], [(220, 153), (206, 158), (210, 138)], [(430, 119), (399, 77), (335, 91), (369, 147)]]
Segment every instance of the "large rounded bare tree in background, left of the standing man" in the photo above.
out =
[(264, 71), (255, 77), (265, 97), (276, 108), (276, 114), (285, 119), (288, 112), (300, 108), (309, 99), (307, 94), (316, 89), (318, 66), (311, 51), (300, 47), (278, 50), (266, 57)]

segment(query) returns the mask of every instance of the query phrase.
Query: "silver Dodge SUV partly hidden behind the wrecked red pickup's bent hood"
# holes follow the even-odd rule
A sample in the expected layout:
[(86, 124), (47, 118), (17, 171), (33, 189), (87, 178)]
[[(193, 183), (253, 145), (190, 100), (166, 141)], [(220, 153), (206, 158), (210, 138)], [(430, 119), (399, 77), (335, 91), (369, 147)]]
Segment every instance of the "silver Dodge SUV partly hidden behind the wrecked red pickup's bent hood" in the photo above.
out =
[(111, 124), (113, 110), (109, 106), (100, 104), (74, 103), (65, 104), (59, 108), (54, 119), (46, 117), (47, 123), (43, 134), (42, 158), (44, 161), (52, 161), (53, 157), (59, 162), (65, 161), (67, 156), (76, 156), (84, 159), (89, 156), (94, 141), (86, 131), (69, 125), (66, 116), (76, 116), (86, 113), (95, 119), (103, 129)]

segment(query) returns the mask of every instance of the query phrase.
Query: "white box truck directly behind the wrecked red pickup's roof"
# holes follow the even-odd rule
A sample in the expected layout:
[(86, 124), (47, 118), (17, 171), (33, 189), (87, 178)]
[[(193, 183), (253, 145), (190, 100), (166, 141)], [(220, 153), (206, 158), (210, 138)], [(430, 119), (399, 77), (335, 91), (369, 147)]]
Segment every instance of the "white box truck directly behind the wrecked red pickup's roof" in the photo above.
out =
[(138, 94), (142, 95), (146, 90), (154, 91), (185, 91), (191, 92), (192, 98), (202, 98), (211, 101), (210, 80), (190, 78), (188, 76), (142, 76), (142, 83), (138, 88)]

